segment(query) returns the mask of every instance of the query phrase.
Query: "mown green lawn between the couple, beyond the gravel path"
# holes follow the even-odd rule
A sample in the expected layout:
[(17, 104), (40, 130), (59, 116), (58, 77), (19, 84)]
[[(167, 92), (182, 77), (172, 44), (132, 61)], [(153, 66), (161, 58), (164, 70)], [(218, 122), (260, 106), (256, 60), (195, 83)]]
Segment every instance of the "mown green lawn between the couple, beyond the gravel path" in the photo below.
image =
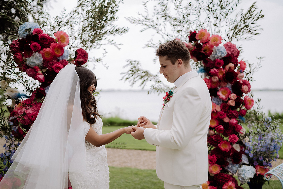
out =
[[(102, 133), (110, 133), (124, 126), (103, 126)], [(136, 140), (130, 134), (123, 134), (121, 137), (115, 139), (112, 143), (105, 145), (108, 148), (122, 148), (122, 149), (134, 149), (134, 150), (155, 150), (154, 145), (150, 145), (143, 140)]]

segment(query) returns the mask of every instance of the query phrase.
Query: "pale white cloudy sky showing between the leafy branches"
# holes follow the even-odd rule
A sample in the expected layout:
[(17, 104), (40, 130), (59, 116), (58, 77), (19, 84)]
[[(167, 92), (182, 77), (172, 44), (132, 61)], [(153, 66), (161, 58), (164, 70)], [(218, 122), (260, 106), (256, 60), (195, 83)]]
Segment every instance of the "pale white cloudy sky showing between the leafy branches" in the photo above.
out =
[[(102, 64), (95, 66), (94, 73), (99, 78), (98, 89), (139, 89), (138, 84), (130, 86), (128, 82), (121, 81), (121, 72), (126, 71), (123, 65), (126, 60), (139, 60), (142, 67), (151, 71), (151, 73), (159, 72), (158, 63), (153, 63), (155, 58), (155, 49), (143, 48), (147, 41), (154, 34), (153, 31), (140, 33), (140, 26), (130, 24), (125, 19), (125, 16), (137, 16), (137, 12), (143, 11), (142, 0), (124, 0), (120, 5), (120, 10), (117, 14), (120, 27), (126, 26), (129, 28), (128, 33), (123, 36), (115, 37), (117, 43), (123, 43), (121, 50), (112, 46), (107, 46), (108, 54), (104, 58), (104, 63), (109, 67), (106, 69)], [(241, 6), (249, 6), (253, 3), (252, 0), (245, 0)], [(48, 11), (52, 16), (58, 15), (63, 8), (71, 10), (76, 6), (76, 0), (52, 0), (48, 5)], [(239, 42), (243, 47), (241, 59), (249, 62), (257, 62), (256, 57), (263, 56), (262, 67), (254, 74), (255, 82), (252, 83), (253, 89), (271, 88), (283, 89), (283, 82), (280, 76), (282, 75), (282, 24), (283, 24), (283, 1), (282, 0), (258, 0), (257, 6), (265, 15), (259, 21), (263, 28), (261, 35), (254, 36), (252, 41)], [(281, 52), (281, 53), (280, 53)], [(94, 55), (92, 55), (94, 56)], [(160, 76), (160, 79), (167, 82), (165, 78)], [(149, 86), (147, 87), (149, 88)]]

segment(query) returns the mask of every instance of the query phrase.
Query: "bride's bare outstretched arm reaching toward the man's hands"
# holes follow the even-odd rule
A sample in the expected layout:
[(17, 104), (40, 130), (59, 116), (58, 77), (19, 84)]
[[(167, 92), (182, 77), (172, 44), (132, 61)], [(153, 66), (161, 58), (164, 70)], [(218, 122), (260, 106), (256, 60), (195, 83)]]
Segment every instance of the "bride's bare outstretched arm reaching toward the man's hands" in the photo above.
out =
[(111, 133), (98, 135), (95, 130), (90, 128), (87, 135), (85, 136), (85, 140), (89, 141), (92, 145), (99, 147), (111, 143), (113, 140), (117, 139), (124, 133), (130, 134), (132, 131), (132, 126), (128, 126), (117, 129), (116, 131), (113, 131)]

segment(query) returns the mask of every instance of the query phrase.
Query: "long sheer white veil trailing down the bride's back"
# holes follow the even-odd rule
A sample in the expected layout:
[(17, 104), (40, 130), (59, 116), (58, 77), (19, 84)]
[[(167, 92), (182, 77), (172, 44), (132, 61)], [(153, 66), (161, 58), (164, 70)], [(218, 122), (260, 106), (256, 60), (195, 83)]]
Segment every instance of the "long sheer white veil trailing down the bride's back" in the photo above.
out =
[(79, 83), (74, 64), (57, 74), (0, 188), (65, 189), (69, 172), (86, 173)]

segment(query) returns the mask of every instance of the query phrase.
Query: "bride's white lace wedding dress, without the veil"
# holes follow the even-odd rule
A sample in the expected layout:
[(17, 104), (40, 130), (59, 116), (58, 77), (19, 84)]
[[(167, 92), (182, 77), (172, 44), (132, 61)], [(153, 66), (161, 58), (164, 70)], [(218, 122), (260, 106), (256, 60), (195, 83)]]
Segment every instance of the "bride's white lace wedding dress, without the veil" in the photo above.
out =
[[(95, 124), (89, 125), (83, 121), (85, 135), (89, 129), (94, 129), (102, 135), (102, 120), (99, 117)], [(109, 169), (105, 146), (96, 147), (85, 141), (87, 174), (85, 176), (69, 173), (73, 189), (109, 189)]]

